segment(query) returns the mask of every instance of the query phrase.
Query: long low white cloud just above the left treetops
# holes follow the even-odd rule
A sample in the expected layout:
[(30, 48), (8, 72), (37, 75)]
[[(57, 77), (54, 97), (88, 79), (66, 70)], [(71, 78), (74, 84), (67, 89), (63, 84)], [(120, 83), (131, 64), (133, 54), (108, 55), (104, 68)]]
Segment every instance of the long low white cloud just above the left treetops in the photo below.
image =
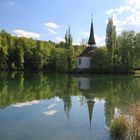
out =
[(39, 38), (40, 37), (40, 34), (38, 34), (38, 33), (27, 32), (27, 31), (20, 30), (20, 29), (13, 30), (13, 32), (19, 37), (22, 37), (22, 36), (27, 37), (27, 38)]

